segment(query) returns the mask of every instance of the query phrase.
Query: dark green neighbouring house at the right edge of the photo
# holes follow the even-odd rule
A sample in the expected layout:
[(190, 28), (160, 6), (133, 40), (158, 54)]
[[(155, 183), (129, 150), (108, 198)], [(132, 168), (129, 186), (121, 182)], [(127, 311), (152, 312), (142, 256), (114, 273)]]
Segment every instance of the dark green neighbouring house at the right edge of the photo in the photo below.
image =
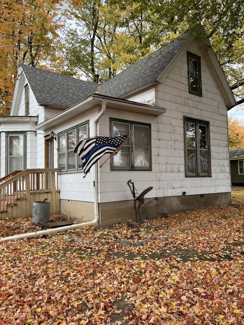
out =
[(244, 148), (230, 150), (230, 172), (232, 185), (244, 185)]

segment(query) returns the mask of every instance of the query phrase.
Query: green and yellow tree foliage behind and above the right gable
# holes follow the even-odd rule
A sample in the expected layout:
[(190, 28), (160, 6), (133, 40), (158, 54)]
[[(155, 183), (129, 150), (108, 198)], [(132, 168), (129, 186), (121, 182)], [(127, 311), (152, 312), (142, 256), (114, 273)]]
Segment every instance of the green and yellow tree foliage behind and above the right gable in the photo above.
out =
[(99, 72), (101, 82), (183, 32), (202, 39), (207, 34), (240, 104), (244, 102), (243, 8), (243, 0), (74, 0), (69, 13), (80, 30), (70, 33), (67, 59), (89, 80)]

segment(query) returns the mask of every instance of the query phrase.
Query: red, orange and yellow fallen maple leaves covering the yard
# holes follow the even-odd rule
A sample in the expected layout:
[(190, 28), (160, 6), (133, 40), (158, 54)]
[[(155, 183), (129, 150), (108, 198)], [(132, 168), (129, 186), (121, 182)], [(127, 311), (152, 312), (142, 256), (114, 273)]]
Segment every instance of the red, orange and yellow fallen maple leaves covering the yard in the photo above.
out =
[[(243, 216), (239, 204), (3, 241), (0, 324), (243, 325)], [(1, 221), (1, 237), (29, 227)]]

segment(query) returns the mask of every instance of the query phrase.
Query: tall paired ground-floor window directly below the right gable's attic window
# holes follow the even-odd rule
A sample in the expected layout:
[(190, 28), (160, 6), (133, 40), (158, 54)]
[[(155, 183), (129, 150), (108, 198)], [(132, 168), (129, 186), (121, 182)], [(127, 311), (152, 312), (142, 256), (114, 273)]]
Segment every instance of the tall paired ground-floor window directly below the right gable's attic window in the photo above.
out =
[(184, 118), (185, 175), (211, 176), (209, 122)]

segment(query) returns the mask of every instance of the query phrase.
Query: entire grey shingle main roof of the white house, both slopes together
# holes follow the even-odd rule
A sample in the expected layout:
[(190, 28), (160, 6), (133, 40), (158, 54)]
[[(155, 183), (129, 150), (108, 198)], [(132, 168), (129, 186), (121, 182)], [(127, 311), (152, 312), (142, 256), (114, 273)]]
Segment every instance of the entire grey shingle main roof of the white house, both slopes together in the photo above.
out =
[(187, 40), (183, 34), (102, 85), (21, 64), (38, 104), (69, 108), (91, 94), (120, 98), (156, 82)]

